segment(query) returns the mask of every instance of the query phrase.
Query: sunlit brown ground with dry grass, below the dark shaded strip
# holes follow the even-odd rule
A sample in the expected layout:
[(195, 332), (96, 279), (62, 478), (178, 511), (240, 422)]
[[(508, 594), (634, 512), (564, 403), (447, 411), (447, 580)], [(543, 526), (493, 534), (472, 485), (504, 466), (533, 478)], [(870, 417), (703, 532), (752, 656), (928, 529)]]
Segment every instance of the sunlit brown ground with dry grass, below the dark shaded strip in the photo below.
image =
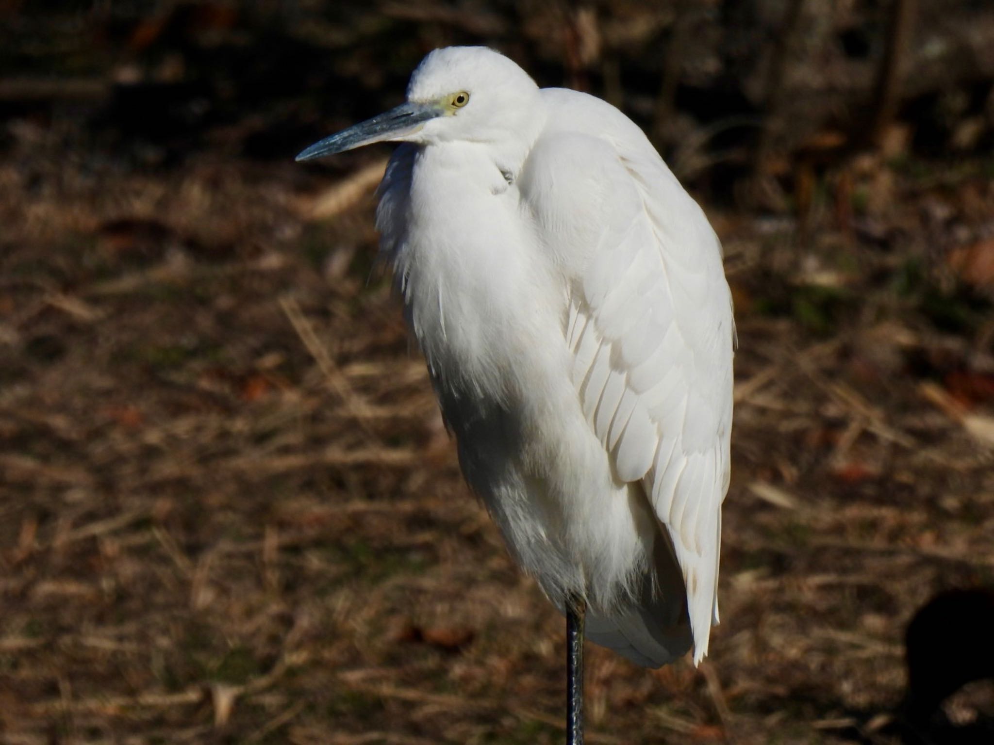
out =
[[(339, 115), (149, 145), (107, 106), (4, 109), (0, 742), (560, 742), (562, 619), (375, 260), (389, 149), (292, 163)], [(594, 745), (897, 743), (912, 614), (994, 585), (994, 158), (805, 174), (779, 208), (690, 180), (739, 330), (723, 622), (700, 670), (588, 647)]]

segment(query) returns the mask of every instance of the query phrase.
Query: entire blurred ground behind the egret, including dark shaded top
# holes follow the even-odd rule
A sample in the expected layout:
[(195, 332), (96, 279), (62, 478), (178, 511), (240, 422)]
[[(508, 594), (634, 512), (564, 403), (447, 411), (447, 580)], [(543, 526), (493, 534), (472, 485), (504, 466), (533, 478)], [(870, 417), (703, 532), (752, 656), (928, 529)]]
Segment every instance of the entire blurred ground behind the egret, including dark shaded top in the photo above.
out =
[(0, 5), (0, 741), (562, 739), (375, 265), (389, 150), (291, 160), (484, 41), (654, 132), (736, 296), (723, 623), (588, 649), (589, 741), (896, 742), (914, 609), (994, 584), (994, 18), (913, 5), (891, 111), (858, 0)]

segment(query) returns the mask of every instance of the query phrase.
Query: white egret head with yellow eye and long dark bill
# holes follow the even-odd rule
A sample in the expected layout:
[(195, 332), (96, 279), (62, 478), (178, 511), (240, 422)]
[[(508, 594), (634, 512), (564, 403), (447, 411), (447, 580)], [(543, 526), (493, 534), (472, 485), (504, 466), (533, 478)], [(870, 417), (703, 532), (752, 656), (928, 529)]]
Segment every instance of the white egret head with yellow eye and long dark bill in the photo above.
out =
[(525, 71), (485, 47), (446, 47), (411, 75), (408, 100), (311, 145), (298, 161), (374, 142), (497, 143), (528, 138), (538, 127), (539, 88)]

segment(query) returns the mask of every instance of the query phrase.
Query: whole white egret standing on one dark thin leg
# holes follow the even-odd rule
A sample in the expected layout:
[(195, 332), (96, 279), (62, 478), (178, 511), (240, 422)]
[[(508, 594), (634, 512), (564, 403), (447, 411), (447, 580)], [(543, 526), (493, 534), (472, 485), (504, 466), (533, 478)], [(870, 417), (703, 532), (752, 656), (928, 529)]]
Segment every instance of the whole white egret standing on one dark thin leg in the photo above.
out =
[(403, 141), (377, 227), (459, 463), (567, 616), (568, 741), (586, 637), (645, 667), (718, 622), (734, 322), (721, 245), (642, 131), (479, 47), (304, 150)]

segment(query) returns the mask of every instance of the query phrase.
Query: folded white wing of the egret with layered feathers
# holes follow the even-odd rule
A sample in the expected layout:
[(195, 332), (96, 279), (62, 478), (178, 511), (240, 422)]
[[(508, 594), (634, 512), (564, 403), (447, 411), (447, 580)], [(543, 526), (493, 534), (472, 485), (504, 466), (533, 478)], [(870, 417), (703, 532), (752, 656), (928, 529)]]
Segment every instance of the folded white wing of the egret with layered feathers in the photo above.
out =
[[(527, 168), (575, 173), (576, 153), (582, 152), (595, 172), (577, 186), (583, 200), (597, 195), (592, 207), (582, 204), (582, 224), (594, 227), (577, 227), (562, 244), (551, 245), (573, 287), (564, 330), (573, 380), (617, 477), (643, 485), (669, 533), (698, 662), (718, 618), (732, 424), (731, 294), (721, 246), (704, 214), (644, 136), (624, 122), (627, 134), (609, 141), (592, 126), (578, 133), (573, 120), (563, 132), (553, 128)], [(613, 130), (621, 126), (612, 120)], [(568, 204), (569, 192), (550, 197), (547, 190), (540, 198), (523, 186), (540, 224), (547, 213), (548, 224), (568, 223), (564, 216), (580, 209)], [(548, 204), (555, 199), (561, 202)], [(596, 220), (591, 209), (598, 211)], [(554, 242), (555, 231), (550, 235)]]

